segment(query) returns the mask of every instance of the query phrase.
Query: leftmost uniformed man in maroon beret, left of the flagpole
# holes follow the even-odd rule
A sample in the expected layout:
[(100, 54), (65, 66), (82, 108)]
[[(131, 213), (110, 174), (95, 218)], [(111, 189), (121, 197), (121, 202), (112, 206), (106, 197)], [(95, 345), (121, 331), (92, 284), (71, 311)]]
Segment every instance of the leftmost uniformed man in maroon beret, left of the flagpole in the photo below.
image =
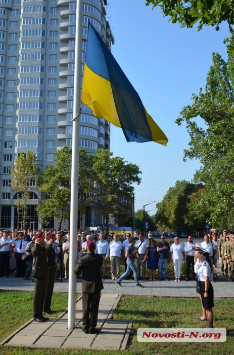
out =
[(48, 317), (44, 317), (42, 315), (48, 280), (47, 254), (45, 251), (45, 247), (43, 246), (43, 242), (43, 233), (37, 233), (35, 235), (35, 243), (31, 249), (34, 258), (33, 277), (35, 279), (32, 313), (34, 321), (40, 323), (49, 320)]

